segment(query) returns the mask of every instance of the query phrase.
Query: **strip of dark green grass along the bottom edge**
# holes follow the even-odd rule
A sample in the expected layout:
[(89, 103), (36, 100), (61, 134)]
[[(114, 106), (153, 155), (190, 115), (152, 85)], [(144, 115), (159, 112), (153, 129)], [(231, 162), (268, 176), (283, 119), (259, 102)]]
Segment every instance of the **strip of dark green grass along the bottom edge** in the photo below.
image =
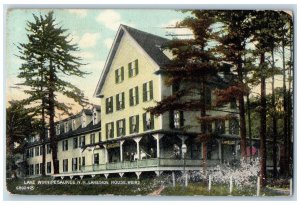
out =
[[(12, 194), (22, 195), (148, 195), (159, 188), (153, 179), (142, 179), (138, 181), (136, 178), (89, 178), (76, 180), (63, 180), (66, 183), (74, 184), (56, 184), (56, 185), (38, 185), (39, 180), (51, 181), (49, 177), (28, 179), (35, 181), (35, 185), (24, 184), (24, 179), (7, 180), (7, 190)], [(61, 180), (58, 180), (61, 182)], [(113, 181), (127, 184), (112, 184)], [(139, 182), (139, 184), (130, 185), (128, 181)], [(83, 182), (95, 183), (105, 182), (108, 184), (83, 184)], [(77, 184), (80, 183), (80, 184)], [(33, 188), (32, 190), (18, 190), (18, 188)], [(208, 191), (207, 185), (200, 182), (189, 183), (188, 187), (177, 184), (175, 187), (166, 186), (160, 193), (164, 196), (229, 196), (229, 186), (225, 184), (213, 184), (211, 191)], [(272, 189), (264, 189), (261, 191), (262, 196), (283, 196), (284, 193), (278, 193)], [(233, 188), (231, 196), (256, 196), (255, 188)]]

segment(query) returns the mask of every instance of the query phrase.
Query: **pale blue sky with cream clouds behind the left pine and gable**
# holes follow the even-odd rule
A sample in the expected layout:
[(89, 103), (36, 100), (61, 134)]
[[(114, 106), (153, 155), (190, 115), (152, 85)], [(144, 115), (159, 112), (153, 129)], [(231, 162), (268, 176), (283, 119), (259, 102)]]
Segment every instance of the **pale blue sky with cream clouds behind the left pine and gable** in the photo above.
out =
[[(6, 16), (6, 102), (25, 98), (22, 89), (16, 84), (22, 82), (17, 78), (22, 61), (16, 57), (18, 43), (26, 43), (27, 21), (33, 21), (33, 13), (44, 15), (46, 9), (11, 9)], [(83, 58), (81, 69), (90, 73), (85, 78), (72, 77), (70, 81), (84, 91), (90, 103), (100, 104), (100, 100), (93, 97), (113, 39), (120, 24), (125, 24), (146, 32), (166, 38), (171, 38), (170, 32), (185, 32), (166, 29), (174, 26), (186, 14), (175, 10), (151, 9), (54, 9), (56, 21), (70, 33), (72, 42), (78, 44), (80, 51), (76, 54)], [(62, 101), (72, 103), (66, 98)], [(70, 104), (71, 105), (71, 104)], [(79, 112), (81, 107), (72, 105), (73, 112)]]

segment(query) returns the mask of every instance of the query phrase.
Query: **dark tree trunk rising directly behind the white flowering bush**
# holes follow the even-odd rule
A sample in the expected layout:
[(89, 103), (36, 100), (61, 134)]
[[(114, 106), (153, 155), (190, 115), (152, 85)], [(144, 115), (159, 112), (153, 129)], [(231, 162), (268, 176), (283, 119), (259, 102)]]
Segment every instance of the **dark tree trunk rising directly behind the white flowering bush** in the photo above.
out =
[[(239, 83), (244, 85), (243, 83), (243, 71), (242, 71), (242, 56), (239, 55), (238, 61), (238, 78)], [(240, 135), (241, 135), (241, 159), (246, 157), (246, 118), (245, 118), (245, 102), (244, 102), (244, 90), (240, 92), (239, 97), (239, 117), (240, 117)]]

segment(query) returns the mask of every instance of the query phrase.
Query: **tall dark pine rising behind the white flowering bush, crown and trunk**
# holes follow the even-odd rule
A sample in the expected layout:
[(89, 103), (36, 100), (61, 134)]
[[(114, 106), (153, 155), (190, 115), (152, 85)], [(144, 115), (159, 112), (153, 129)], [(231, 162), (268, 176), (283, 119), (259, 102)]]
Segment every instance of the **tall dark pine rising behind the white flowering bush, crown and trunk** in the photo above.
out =
[[(248, 86), (244, 80), (246, 69), (243, 56), (247, 53), (246, 45), (251, 37), (250, 13), (251, 11), (247, 10), (219, 11), (217, 13), (217, 18), (224, 27), (218, 38), (220, 42), (218, 52), (222, 55), (222, 59), (225, 62), (232, 64), (236, 68), (234, 71), (237, 75), (232, 85), (233, 89), (229, 88), (227, 92), (219, 93), (219, 95), (231, 95), (238, 100), (242, 158), (246, 156), (246, 111), (244, 96), (248, 93)], [(234, 93), (229, 93), (229, 91)], [(232, 100), (230, 98), (227, 99)]]

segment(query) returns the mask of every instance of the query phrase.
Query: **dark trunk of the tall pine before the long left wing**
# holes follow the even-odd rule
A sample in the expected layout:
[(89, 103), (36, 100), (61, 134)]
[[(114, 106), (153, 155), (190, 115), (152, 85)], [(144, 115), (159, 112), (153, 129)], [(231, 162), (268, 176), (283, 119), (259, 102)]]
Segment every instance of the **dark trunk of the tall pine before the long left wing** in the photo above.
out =
[(59, 164), (57, 160), (57, 137), (55, 134), (55, 99), (54, 99), (54, 68), (52, 66), (52, 60), (50, 59), (50, 71), (49, 71), (49, 132), (50, 132), (50, 146), (52, 149), (52, 161), (54, 174), (59, 173)]

